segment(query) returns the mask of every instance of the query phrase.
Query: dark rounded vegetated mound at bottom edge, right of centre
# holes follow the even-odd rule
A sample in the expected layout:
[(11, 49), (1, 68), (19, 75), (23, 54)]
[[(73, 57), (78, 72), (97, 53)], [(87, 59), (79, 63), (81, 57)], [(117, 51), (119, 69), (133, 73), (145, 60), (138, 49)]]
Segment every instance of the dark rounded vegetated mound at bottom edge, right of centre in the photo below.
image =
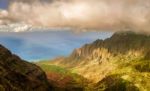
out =
[(96, 91), (138, 91), (138, 88), (118, 75), (111, 75), (97, 84)]

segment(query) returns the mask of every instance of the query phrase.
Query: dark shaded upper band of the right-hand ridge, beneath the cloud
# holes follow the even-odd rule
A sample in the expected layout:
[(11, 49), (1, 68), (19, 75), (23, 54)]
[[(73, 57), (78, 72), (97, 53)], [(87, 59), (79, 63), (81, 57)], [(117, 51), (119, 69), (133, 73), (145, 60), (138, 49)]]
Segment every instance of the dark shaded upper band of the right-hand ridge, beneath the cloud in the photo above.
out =
[(93, 49), (96, 48), (105, 48), (108, 52), (114, 54), (114, 56), (118, 53), (126, 54), (126, 52), (130, 50), (143, 50), (144, 52), (149, 52), (150, 43), (148, 41), (150, 41), (150, 36), (144, 34), (135, 34), (133, 32), (115, 33), (112, 37), (105, 40), (98, 39), (91, 44), (84, 45), (77, 49), (77, 51), (74, 51), (71, 56), (81, 54), (81, 57), (86, 57), (91, 55)]

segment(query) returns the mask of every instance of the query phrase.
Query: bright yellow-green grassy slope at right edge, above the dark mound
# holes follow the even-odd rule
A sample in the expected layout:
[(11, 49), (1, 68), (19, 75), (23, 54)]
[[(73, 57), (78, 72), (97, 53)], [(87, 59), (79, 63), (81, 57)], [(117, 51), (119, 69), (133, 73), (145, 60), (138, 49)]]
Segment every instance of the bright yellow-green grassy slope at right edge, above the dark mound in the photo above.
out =
[(119, 75), (123, 80), (132, 83), (139, 91), (150, 91), (150, 60), (120, 61), (118, 68), (109, 75)]

